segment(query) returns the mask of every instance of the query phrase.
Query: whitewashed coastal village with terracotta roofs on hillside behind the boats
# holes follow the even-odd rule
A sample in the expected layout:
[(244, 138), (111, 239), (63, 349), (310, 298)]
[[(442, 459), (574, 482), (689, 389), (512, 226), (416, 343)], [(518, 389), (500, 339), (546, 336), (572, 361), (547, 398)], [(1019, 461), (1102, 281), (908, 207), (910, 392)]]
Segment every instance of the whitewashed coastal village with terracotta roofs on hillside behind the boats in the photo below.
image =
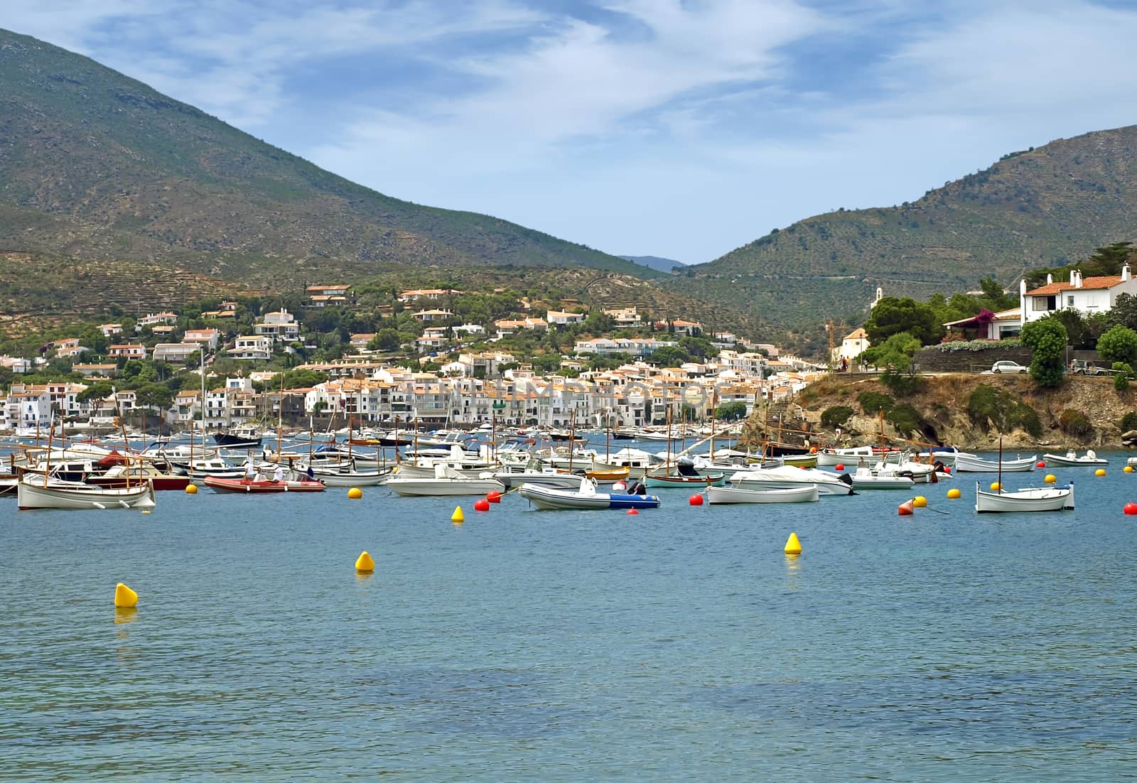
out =
[[(339, 427), (351, 420), (633, 428), (664, 425), (669, 411), (677, 423), (742, 418), (763, 400), (799, 392), (825, 369), (783, 356), (773, 344), (729, 332), (706, 334), (694, 320), (653, 320), (637, 307), (601, 310), (595, 322), (606, 327), (600, 334), (581, 331), (595, 311), (579, 302), (466, 323), (441, 306), (463, 295), (453, 289), (399, 292), (404, 320), (421, 326), (413, 340), (393, 344), (377, 332), (349, 333), (335, 358), (306, 360), (301, 353), (318, 355), (321, 338), (309, 320), (315, 324), (329, 308), (349, 309), (351, 286), (309, 285), (305, 293), (299, 313), (282, 307), (244, 324), (244, 307), (222, 301), (193, 318), (175, 311), (124, 315), (97, 326), (105, 339), (97, 347), (66, 338), (31, 356), (0, 356), (11, 378), (0, 399), (0, 428), (20, 435), (45, 432), (53, 423), (106, 430), (119, 419), (140, 424), (147, 415), (151, 430), (167, 432), (201, 420), (213, 431), (279, 419), (304, 427), (338, 419)], [(566, 338), (553, 361), (548, 353), (496, 348), (518, 334), (550, 332)], [(684, 343), (703, 355), (687, 360)], [(70, 377), (22, 380), (45, 369)], [(313, 382), (285, 388), (282, 373)], [(168, 400), (142, 393), (156, 381), (171, 389)]]

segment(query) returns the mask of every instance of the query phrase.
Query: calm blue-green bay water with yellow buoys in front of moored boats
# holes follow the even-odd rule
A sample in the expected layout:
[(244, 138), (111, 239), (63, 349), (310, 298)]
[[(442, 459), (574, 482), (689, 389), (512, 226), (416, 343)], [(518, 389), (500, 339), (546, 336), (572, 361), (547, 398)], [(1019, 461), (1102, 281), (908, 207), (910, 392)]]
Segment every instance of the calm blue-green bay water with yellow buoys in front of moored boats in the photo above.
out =
[(462, 499), (460, 527), (382, 488), (0, 500), (0, 777), (1137, 777), (1137, 474), (1110, 456), (1052, 470), (1076, 511), (1015, 516), (976, 515), (973, 477), (915, 517), (911, 492)]

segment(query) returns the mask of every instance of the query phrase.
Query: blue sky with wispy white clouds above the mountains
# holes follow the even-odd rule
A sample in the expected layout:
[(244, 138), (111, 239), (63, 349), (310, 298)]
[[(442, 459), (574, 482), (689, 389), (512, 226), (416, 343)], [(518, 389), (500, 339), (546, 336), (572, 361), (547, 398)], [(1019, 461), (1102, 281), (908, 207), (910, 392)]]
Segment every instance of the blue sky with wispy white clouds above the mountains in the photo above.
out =
[(388, 195), (686, 264), (1137, 124), (1128, 0), (8, 0), (0, 26)]

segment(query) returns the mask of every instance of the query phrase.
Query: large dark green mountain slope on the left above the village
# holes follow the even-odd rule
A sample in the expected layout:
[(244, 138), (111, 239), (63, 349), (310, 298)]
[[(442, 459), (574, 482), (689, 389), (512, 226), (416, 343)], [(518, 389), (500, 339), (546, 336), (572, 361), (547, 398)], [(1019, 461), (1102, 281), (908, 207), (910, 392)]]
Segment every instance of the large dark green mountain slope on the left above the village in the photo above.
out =
[(383, 195), (89, 58), (7, 31), (0, 251), (49, 264), (146, 261), (268, 289), (387, 264), (659, 276), (506, 220)]

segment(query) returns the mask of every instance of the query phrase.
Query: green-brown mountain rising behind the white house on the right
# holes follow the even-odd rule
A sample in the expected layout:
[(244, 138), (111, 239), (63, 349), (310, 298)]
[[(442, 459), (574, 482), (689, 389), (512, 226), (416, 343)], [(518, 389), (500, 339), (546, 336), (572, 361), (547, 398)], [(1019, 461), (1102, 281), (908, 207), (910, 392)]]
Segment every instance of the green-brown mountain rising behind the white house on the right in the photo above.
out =
[(1129, 126), (1011, 152), (899, 207), (799, 220), (665, 285), (789, 328), (856, 323), (878, 286), (914, 298), (976, 289), (990, 275), (1015, 286), (1032, 268), (1134, 239), (1135, 214), (1137, 126)]

